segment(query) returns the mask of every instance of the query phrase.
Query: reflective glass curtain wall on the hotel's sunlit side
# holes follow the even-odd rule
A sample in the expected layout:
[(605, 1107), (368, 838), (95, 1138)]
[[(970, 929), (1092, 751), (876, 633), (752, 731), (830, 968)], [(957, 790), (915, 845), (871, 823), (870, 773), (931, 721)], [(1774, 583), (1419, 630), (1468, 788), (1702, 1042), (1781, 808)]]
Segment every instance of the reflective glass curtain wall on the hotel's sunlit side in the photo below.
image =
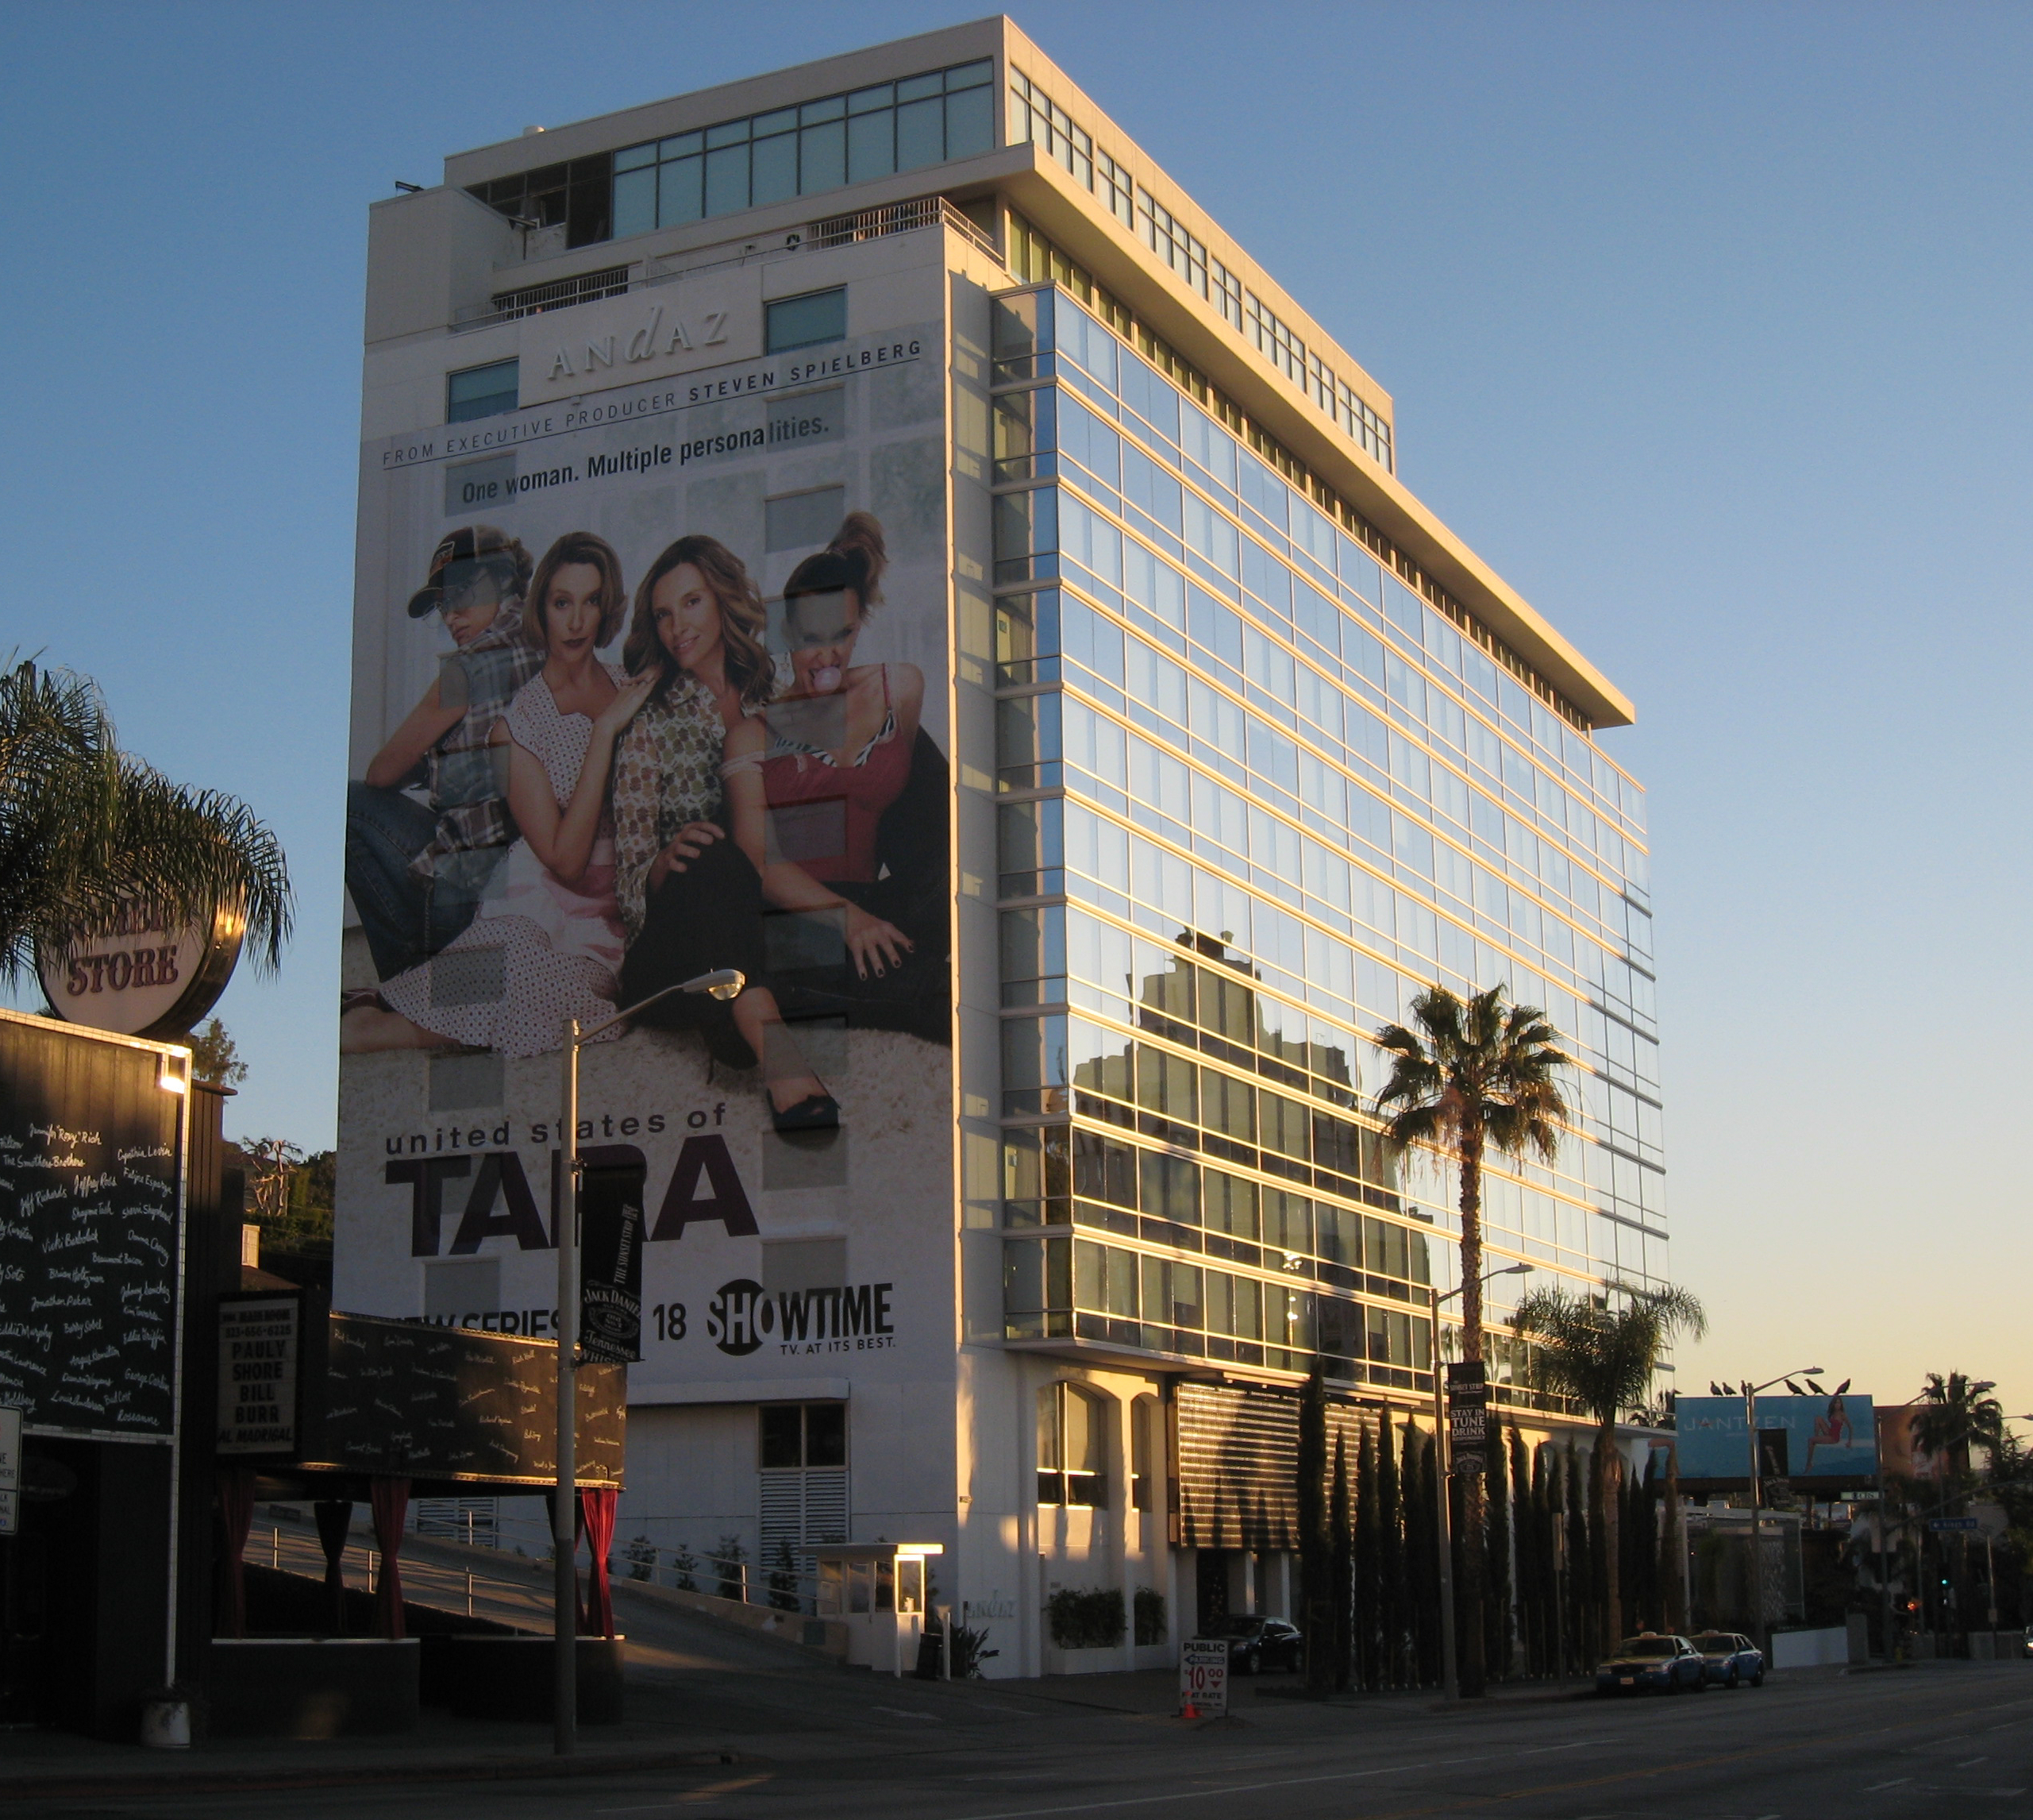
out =
[(1063, 291), (996, 315), (1008, 1338), (1427, 1389), (1452, 1184), (1360, 1106), (1433, 980), (1582, 1061), (1488, 1242), (1663, 1281), (1639, 787)]

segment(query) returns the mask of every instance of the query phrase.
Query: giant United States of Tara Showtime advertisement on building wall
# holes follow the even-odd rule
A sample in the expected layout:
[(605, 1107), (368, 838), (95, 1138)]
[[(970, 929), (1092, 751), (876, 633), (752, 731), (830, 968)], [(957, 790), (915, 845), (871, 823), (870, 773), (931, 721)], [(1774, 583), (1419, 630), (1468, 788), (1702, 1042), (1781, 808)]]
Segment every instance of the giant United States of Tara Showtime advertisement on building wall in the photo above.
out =
[(941, 348), (364, 449), (340, 1308), (551, 1334), (561, 1027), (655, 998), (581, 1070), (581, 1145), (646, 1167), (630, 1395), (947, 1342)]

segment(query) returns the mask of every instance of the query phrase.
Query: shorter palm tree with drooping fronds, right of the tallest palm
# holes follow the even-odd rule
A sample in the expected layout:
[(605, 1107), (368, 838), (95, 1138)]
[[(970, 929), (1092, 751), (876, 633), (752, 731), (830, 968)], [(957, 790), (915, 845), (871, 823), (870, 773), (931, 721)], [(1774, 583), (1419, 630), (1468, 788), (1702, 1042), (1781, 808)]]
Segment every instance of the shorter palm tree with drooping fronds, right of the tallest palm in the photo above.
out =
[(1533, 1375), (1551, 1391), (1574, 1397), (1596, 1417), (1596, 1521), (1608, 1558), (1602, 1647), (1614, 1649), (1622, 1633), (1618, 1499), (1622, 1456), (1616, 1452), (1618, 1411), (1643, 1405), (1667, 1340), (1681, 1332), (1702, 1338), (1708, 1312), (1689, 1289), (1639, 1289), (1606, 1283), (1602, 1293), (1533, 1289), (1511, 1316), (1511, 1330), (1537, 1338)]

